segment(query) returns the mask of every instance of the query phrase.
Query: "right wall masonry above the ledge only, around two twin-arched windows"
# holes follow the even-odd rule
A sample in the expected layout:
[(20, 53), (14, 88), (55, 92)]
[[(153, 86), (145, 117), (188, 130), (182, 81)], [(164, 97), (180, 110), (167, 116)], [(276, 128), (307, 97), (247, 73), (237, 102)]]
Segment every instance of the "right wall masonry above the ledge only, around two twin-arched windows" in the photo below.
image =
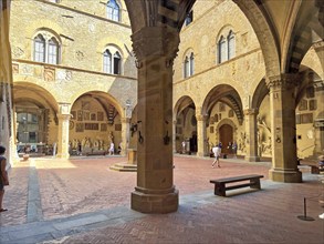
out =
[[(203, 13), (201, 12), (199, 17), (196, 17), (195, 8), (199, 8), (202, 2), (198, 1), (196, 4), (194, 6), (194, 22), (189, 26), (184, 24), (180, 32), (181, 42), (178, 58), (175, 60), (175, 81), (184, 79), (184, 54), (189, 48), (195, 53), (195, 74), (217, 65), (217, 38), (224, 27), (232, 27), (236, 33), (236, 57), (260, 49), (252, 27), (233, 2), (224, 1), (215, 4), (211, 9), (206, 10)], [(259, 60), (260, 57), (252, 60), (247, 59), (245, 63), (252, 67)], [(238, 69), (234, 64), (232, 65), (233, 70)]]

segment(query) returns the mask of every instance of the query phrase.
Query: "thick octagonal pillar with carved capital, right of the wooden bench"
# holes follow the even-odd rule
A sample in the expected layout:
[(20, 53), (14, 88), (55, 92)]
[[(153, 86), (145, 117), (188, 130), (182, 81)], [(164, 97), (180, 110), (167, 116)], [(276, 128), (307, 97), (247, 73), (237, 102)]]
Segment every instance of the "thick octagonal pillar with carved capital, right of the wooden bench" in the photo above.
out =
[(282, 74), (268, 79), (272, 132), (272, 169), (270, 179), (278, 182), (302, 182), (297, 169), (295, 93), (297, 77)]

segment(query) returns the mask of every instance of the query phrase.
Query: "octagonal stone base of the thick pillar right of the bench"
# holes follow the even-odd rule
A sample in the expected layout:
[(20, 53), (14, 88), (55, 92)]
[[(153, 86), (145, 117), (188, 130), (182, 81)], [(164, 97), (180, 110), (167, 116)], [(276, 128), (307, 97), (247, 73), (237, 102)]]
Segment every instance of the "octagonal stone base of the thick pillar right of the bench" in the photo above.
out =
[(302, 183), (302, 172), (296, 170), (282, 170), (282, 169), (271, 169), (269, 171), (269, 177), (275, 182), (284, 183)]

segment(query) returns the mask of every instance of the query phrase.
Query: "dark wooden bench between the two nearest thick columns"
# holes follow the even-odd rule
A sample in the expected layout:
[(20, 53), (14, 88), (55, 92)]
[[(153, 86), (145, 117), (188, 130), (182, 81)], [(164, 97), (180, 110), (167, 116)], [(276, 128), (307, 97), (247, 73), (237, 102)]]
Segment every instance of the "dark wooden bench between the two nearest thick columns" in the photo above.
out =
[[(228, 190), (241, 189), (247, 186), (250, 186), (251, 189), (261, 189), (261, 184), (260, 184), (261, 177), (263, 177), (263, 175), (251, 174), (251, 175), (210, 180), (210, 183), (215, 184), (215, 195), (226, 196), (226, 191)], [(244, 182), (241, 184), (226, 186), (227, 183), (234, 183), (234, 182), (241, 182), (241, 181), (244, 181)], [(247, 181), (250, 181), (250, 182), (247, 182)]]

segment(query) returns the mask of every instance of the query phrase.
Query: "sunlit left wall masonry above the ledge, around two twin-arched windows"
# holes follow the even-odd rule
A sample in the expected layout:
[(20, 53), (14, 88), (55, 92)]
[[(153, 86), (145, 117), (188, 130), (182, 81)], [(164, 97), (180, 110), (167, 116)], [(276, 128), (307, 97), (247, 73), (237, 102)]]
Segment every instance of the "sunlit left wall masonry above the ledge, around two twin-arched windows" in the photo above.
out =
[[(12, 3), (10, 40), (15, 59), (33, 59), (32, 38), (38, 30), (44, 28), (56, 33), (62, 40), (62, 65), (103, 72), (103, 51), (107, 44), (115, 44), (121, 49), (123, 62), (133, 59), (129, 55), (132, 32), (128, 26), (103, 21), (73, 9), (64, 9), (61, 4), (43, 1)], [(83, 2), (83, 10), (87, 9), (87, 3)], [(21, 12), (24, 14), (19, 14)], [(135, 78), (136, 69), (124, 70), (124, 75)]]

